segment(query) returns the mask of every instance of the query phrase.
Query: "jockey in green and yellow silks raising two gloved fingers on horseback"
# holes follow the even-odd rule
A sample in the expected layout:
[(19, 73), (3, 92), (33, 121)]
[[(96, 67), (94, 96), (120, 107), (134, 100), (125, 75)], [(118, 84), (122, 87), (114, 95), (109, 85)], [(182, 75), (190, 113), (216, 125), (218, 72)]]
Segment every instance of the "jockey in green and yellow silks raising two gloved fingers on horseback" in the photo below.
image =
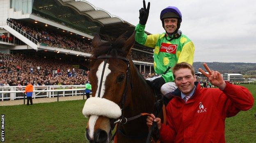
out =
[(147, 80), (150, 80), (153, 87), (165, 95), (177, 88), (172, 70), (168, 70), (168, 67), (174, 67), (174, 65), (181, 62), (192, 65), (194, 44), (178, 30), (181, 26), (182, 15), (181, 11), (173, 6), (166, 7), (160, 13), (160, 20), (165, 32), (162, 34), (145, 34), (144, 29), (149, 16), (150, 2), (146, 8), (145, 0), (143, 0), (143, 5), (144, 7), (139, 10), (139, 24), (135, 28), (135, 41), (155, 49), (154, 69), (155, 73), (160, 76)]

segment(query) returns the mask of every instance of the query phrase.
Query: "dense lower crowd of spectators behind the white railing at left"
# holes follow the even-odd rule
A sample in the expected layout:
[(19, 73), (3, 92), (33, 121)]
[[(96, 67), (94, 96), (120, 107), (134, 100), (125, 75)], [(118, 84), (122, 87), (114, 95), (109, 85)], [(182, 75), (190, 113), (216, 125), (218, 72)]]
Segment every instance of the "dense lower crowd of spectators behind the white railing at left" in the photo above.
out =
[[(31, 81), (33, 85), (80, 85), (88, 79), (88, 71), (76, 68), (67, 61), (51, 58), (0, 54), (0, 86), (22, 86)], [(53, 62), (55, 61), (55, 62)]]

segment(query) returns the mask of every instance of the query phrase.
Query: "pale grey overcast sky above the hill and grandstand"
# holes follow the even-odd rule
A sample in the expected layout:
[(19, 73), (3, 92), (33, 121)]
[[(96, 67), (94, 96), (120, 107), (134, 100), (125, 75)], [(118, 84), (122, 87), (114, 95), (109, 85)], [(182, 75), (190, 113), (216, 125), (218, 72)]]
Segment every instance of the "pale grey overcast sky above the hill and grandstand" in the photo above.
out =
[[(137, 25), (142, 0), (87, 0), (95, 7)], [(160, 12), (176, 6), (180, 30), (195, 46), (194, 62), (256, 63), (255, 0), (146, 0), (150, 2), (145, 30), (165, 32)]]

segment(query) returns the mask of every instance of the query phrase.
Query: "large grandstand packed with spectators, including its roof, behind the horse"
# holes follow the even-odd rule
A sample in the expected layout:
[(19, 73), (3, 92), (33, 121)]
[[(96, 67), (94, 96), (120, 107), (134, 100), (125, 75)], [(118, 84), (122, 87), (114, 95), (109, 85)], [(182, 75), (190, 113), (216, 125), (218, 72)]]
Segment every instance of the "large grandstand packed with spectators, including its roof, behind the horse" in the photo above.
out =
[[(111, 40), (135, 29), (85, 0), (0, 0), (0, 12), (0, 84), (84, 84), (94, 34)], [(132, 58), (153, 73), (153, 49), (135, 43)]]

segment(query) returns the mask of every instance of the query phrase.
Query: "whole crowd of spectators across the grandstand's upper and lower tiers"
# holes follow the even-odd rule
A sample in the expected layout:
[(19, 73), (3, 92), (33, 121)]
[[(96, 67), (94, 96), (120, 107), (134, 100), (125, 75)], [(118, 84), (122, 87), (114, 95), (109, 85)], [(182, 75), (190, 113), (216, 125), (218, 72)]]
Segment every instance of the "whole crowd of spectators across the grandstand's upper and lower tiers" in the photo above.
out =
[[(8, 21), (38, 40), (40, 44), (92, 53), (91, 44), (86, 40), (64, 36), (55, 31), (34, 27), (14, 19)], [(7, 39), (5, 35), (1, 38)], [(81, 69), (67, 65), (66, 62), (56, 64), (52, 63), (53, 60), (49, 58), (39, 59), (38, 57), (28, 57), (21, 54), (0, 55), (9, 57), (8, 60), (0, 61), (0, 86), (26, 85), (27, 81), (31, 81), (34, 85), (77, 85), (85, 84), (86, 80), (88, 80), (86, 76), (81, 74)], [(131, 55), (133, 60), (153, 63), (152, 54), (132, 50)], [(149, 72), (142, 73), (142, 75), (145, 78), (156, 76), (155, 74), (149, 74)]]

